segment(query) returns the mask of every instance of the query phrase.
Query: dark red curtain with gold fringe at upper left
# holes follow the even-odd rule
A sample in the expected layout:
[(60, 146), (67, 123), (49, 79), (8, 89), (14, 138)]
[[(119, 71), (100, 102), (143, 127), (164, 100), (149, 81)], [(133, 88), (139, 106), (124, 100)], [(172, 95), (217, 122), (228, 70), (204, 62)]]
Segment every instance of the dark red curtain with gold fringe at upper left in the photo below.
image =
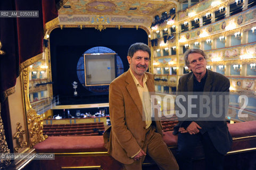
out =
[(57, 18), (60, 4), (63, 0), (0, 1), (0, 11), (38, 11), (37, 18), (0, 17), (1, 50), (5, 52), (0, 55), (1, 102), (15, 92), (21, 70), (42, 57), (46, 23)]

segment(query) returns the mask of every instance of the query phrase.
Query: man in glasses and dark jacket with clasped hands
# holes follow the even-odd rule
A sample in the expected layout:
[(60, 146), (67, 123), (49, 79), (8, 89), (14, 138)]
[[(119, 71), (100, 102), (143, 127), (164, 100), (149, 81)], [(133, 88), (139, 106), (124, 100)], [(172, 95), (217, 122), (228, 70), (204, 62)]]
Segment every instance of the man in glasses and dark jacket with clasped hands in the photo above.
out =
[[(185, 64), (192, 72), (183, 75), (179, 79), (177, 93), (184, 95), (196, 95), (200, 92), (205, 94), (220, 94), (225, 96), (229, 92), (229, 80), (222, 74), (207, 70), (207, 61), (205, 53), (200, 49), (189, 49), (184, 54)], [(198, 99), (199, 97), (197, 97)], [(198, 103), (197, 104), (202, 104)], [(216, 112), (219, 107), (211, 105)], [(185, 104), (184, 106), (188, 106)], [(188, 106), (192, 107), (192, 106)], [(221, 109), (227, 109), (228, 103)], [(188, 108), (189, 109), (189, 108)], [(214, 109), (210, 111), (213, 115)], [(176, 110), (177, 103), (176, 103)], [(199, 110), (196, 110), (197, 112)], [(222, 110), (223, 111), (223, 110)], [(193, 112), (193, 111), (192, 111)], [(197, 113), (193, 114), (198, 114)], [(201, 110), (203, 113), (203, 111)], [(225, 113), (225, 112), (222, 112)], [(177, 115), (177, 114), (176, 114)], [(232, 145), (232, 138), (228, 132), (225, 114), (219, 119), (208, 117), (205, 120), (200, 119), (179, 121), (174, 128), (174, 134), (178, 134), (177, 161), (181, 170), (193, 169), (192, 156), (198, 143), (202, 143), (205, 157), (205, 169), (220, 170), (223, 169), (224, 155), (229, 151)]]

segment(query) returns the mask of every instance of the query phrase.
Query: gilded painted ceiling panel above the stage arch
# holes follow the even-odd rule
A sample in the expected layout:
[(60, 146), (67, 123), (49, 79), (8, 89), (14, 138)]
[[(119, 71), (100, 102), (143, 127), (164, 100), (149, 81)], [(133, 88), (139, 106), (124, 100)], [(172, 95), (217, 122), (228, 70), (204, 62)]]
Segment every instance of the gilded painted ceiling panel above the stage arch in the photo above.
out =
[(176, 7), (176, 3), (175, 0), (69, 0), (61, 7), (59, 14), (154, 16)]

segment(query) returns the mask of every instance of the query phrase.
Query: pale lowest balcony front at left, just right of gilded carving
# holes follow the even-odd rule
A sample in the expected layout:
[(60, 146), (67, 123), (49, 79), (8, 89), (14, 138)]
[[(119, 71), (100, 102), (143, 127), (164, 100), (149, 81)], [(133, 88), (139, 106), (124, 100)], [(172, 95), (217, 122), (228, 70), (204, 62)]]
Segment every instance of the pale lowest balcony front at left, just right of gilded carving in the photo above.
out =
[(49, 109), (52, 109), (56, 105), (59, 105), (59, 103), (59, 96), (55, 96), (47, 98), (43, 103), (40, 103), (39, 105), (32, 105), (32, 108), (34, 108), (37, 114), (40, 115), (45, 113)]

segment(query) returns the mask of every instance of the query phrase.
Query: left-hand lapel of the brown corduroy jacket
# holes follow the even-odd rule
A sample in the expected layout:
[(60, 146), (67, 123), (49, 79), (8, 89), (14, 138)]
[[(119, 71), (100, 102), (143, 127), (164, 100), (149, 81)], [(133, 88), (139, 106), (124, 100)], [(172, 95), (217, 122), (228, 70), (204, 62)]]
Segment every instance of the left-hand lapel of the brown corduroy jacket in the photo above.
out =
[(139, 113), (142, 115), (142, 100), (141, 97), (139, 97), (136, 84), (133, 80), (133, 77), (131, 77), (131, 73), (129, 70), (126, 72), (126, 82), (128, 83), (126, 89), (128, 90), (131, 98), (134, 100), (134, 103), (137, 106)]

